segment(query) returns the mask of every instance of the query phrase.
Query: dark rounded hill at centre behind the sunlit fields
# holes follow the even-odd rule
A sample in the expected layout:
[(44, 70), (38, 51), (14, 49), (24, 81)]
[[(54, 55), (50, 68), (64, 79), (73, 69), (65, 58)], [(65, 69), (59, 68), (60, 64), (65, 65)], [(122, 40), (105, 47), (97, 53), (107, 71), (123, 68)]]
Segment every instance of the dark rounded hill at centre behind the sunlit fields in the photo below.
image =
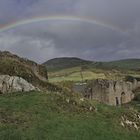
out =
[(48, 71), (57, 71), (66, 68), (72, 68), (77, 66), (91, 65), (92, 61), (83, 60), (76, 57), (62, 57), (54, 58), (43, 63), (48, 69)]

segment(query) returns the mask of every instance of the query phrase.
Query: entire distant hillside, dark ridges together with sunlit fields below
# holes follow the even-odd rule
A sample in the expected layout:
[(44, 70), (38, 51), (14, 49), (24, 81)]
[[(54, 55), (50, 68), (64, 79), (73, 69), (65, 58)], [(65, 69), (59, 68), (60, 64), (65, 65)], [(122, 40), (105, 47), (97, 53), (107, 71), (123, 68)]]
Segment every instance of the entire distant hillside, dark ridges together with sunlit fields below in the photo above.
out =
[(97, 78), (118, 80), (126, 75), (140, 76), (138, 71), (140, 59), (91, 62), (79, 60), (78, 58), (56, 58), (46, 62), (45, 65), (49, 68), (48, 76), (50, 82), (81, 81), (81, 71), (84, 80)]

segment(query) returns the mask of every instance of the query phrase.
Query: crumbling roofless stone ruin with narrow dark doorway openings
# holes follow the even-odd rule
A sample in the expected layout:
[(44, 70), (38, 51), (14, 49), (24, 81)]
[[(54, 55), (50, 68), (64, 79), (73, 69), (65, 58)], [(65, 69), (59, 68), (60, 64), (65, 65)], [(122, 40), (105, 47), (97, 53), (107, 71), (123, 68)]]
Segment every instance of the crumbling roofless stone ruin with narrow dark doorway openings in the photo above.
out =
[(140, 81), (133, 82), (97, 79), (88, 84), (83, 92), (89, 99), (109, 105), (121, 105), (134, 98), (134, 91), (140, 87)]

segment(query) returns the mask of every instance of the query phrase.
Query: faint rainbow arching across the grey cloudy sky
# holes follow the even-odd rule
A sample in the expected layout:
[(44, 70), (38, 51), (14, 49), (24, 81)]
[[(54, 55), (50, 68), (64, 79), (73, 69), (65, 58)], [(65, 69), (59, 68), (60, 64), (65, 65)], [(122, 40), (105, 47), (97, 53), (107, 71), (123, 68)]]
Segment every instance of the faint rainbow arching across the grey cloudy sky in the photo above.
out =
[(23, 19), (15, 21), (6, 25), (0, 26), (0, 32), (4, 32), (10, 29), (14, 29), (26, 24), (33, 24), (37, 22), (46, 22), (46, 21), (73, 21), (73, 22), (85, 22), (89, 24), (103, 26), (118, 32), (124, 32), (124, 30), (113, 26), (112, 24), (104, 23), (96, 19), (91, 19), (87, 17), (76, 17), (76, 16), (48, 16), (48, 17), (33, 17), (30, 19)]

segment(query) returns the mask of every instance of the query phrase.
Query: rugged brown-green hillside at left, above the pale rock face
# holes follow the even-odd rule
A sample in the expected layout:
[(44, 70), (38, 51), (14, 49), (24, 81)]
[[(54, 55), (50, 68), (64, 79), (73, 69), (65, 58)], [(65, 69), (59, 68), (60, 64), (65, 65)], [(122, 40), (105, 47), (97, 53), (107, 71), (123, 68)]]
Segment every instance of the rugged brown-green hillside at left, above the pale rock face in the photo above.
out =
[(46, 67), (7, 51), (0, 51), (0, 74), (19, 76), (34, 85), (48, 79)]

